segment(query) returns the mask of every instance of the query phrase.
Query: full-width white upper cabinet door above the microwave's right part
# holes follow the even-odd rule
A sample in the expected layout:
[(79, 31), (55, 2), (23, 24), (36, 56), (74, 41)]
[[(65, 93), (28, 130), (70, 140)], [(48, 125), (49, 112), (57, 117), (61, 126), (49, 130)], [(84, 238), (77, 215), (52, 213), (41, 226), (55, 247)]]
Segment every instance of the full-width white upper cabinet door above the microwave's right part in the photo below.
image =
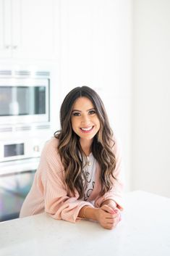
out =
[[(14, 3), (15, 1), (13, 0)], [(56, 2), (22, 0), (20, 8), (13, 4), (12, 57), (54, 59)]]

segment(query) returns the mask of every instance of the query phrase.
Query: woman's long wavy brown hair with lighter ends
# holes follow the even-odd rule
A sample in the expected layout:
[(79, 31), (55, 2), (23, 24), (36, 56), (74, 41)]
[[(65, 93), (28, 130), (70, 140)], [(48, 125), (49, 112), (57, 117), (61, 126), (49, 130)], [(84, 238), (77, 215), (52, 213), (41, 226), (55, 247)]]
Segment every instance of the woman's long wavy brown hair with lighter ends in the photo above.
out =
[(112, 150), (114, 146), (113, 132), (109, 125), (106, 110), (100, 96), (90, 87), (82, 86), (72, 89), (61, 104), (60, 123), (61, 131), (56, 131), (54, 136), (59, 139), (59, 155), (65, 170), (65, 182), (69, 190), (75, 194), (77, 189), (80, 198), (83, 197), (85, 175), (82, 172), (85, 153), (80, 145), (80, 137), (72, 130), (72, 107), (75, 100), (85, 96), (93, 103), (101, 127), (95, 134), (92, 143), (92, 153), (101, 167), (101, 195), (109, 191), (112, 186), (111, 176), (114, 178), (116, 166), (115, 156)]

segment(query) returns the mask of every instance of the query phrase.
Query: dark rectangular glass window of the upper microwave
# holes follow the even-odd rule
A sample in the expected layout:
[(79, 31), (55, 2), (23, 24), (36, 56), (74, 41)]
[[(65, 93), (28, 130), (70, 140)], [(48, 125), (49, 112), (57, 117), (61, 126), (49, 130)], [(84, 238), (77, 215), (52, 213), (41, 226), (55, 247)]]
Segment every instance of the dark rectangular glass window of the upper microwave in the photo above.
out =
[(0, 86), (0, 116), (46, 114), (46, 86)]

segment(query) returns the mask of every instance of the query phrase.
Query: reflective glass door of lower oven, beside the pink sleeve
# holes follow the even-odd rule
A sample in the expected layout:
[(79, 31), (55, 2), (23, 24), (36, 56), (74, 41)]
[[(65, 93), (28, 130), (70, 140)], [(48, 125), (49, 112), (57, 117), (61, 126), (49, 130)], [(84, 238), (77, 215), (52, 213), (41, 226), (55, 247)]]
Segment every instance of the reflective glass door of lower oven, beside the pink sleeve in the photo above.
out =
[(0, 221), (18, 218), (35, 170), (0, 176)]

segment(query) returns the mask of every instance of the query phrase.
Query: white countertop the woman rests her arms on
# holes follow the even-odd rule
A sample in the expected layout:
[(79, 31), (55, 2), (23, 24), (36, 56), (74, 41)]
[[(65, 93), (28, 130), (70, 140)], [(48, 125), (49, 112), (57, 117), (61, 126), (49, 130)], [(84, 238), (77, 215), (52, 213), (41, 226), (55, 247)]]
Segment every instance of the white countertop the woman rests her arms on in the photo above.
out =
[(170, 199), (143, 191), (125, 196), (114, 230), (80, 220), (54, 220), (45, 213), (0, 223), (1, 256), (168, 256)]

